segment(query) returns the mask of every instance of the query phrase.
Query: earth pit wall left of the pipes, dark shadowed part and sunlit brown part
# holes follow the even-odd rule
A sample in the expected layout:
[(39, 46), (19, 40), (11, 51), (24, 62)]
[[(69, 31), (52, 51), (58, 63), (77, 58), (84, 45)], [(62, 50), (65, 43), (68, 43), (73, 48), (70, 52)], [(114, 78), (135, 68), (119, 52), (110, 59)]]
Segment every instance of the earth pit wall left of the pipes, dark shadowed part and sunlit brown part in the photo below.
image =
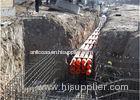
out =
[[(50, 12), (45, 17), (40, 16), (35, 19), (23, 20), (25, 72), (29, 73), (25, 75), (25, 78), (27, 77), (25, 80), (27, 86), (30, 86), (30, 84), (45, 84), (56, 79), (58, 81), (67, 79), (69, 66), (66, 64), (67, 54), (57, 54), (54, 57), (53, 54), (51, 56), (50, 54), (32, 55), (30, 52), (36, 50), (71, 51), (77, 49), (94, 31), (98, 24), (97, 13), (85, 13), (84, 16), (81, 16), (69, 13)], [(47, 57), (45, 62), (40, 66), (36, 66), (38, 68), (34, 67), (43, 57)], [(49, 62), (55, 62), (55, 65), (51, 65)], [(35, 71), (31, 73), (33, 70)], [(56, 72), (54, 72), (55, 70)], [(51, 76), (48, 79), (46, 79), (47, 76), (43, 79), (42, 77), (46, 74), (51, 74)]]

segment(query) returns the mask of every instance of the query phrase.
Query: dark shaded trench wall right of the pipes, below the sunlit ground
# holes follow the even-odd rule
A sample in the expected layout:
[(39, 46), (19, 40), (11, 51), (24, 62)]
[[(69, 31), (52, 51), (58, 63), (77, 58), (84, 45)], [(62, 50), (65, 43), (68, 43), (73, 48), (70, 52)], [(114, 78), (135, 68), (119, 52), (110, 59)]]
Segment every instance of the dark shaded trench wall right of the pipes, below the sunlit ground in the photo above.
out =
[[(102, 31), (99, 37), (99, 65), (97, 80), (103, 83), (114, 82), (121, 79), (135, 80), (120, 82), (119, 85), (126, 84), (129, 90), (139, 89), (139, 39), (138, 31)], [(112, 62), (112, 65), (108, 64)], [(115, 84), (115, 83), (113, 83)], [(137, 84), (137, 85), (136, 85)], [(136, 86), (136, 88), (135, 88)], [(101, 93), (101, 94), (100, 94)], [(107, 90), (99, 92), (100, 95), (109, 94)], [(110, 94), (113, 93), (112, 91)], [(105, 100), (123, 98), (138, 100), (139, 92), (120, 92), (117, 95), (106, 97)], [(103, 98), (104, 99), (104, 98)]]

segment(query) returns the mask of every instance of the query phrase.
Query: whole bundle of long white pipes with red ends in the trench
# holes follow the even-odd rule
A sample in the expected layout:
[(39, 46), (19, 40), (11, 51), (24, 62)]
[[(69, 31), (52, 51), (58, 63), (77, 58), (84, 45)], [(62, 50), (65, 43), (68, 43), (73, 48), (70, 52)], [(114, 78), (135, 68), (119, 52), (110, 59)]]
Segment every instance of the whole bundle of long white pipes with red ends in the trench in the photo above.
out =
[[(106, 22), (107, 18), (102, 15), (100, 22), (95, 31), (89, 36), (84, 44), (76, 52), (75, 56), (70, 62), (69, 71), (73, 75), (85, 74), (87, 76), (96, 72), (95, 52), (93, 48), (96, 47), (100, 30)], [(94, 63), (94, 64), (93, 64)]]

